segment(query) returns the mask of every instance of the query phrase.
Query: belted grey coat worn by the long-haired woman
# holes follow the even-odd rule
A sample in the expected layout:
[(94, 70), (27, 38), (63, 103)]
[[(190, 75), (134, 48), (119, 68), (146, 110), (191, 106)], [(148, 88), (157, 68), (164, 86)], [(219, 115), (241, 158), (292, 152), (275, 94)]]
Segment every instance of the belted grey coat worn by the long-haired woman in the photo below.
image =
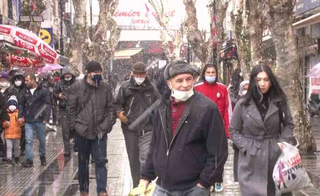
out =
[[(287, 105), (282, 106), (284, 118), (279, 137), (280, 120), (274, 98), (264, 122), (251, 99), (248, 106), (242, 104), (243, 98), (235, 106), (229, 131), (231, 140), (240, 149), (238, 178), (243, 196), (274, 196), (272, 172), (281, 150), (277, 142), (288, 142), (293, 137), (293, 119)], [(269, 183), (273, 188), (267, 188)]]

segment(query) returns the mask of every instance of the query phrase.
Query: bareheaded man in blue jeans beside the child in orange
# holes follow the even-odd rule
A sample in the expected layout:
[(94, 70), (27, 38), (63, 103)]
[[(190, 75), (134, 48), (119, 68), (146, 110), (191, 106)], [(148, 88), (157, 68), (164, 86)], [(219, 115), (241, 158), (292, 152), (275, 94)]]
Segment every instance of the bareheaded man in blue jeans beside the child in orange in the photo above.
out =
[(22, 117), (20, 123), (26, 128), (26, 163), (25, 167), (33, 167), (33, 130), (39, 140), (39, 154), (42, 166), (46, 162), (46, 123), (50, 118), (51, 98), (48, 91), (37, 85), (36, 76), (27, 74), (25, 77), (27, 89), (21, 101)]

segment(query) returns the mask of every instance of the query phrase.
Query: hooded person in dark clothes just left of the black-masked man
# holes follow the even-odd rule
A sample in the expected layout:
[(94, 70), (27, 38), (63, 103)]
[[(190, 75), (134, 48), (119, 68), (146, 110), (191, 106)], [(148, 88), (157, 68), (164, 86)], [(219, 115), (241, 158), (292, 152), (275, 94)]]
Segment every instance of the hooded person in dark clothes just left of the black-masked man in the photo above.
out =
[(67, 95), (70, 86), (76, 81), (75, 75), (70, 71), (69, 67), (62, 69), (61, 80), (55, 85), (53, 98), (59, 100), (59, 117), (62, 128), (62, 139), (64, 144), (64, 156), (70, 156), (72, 138), (69, 123), (67, 120)]

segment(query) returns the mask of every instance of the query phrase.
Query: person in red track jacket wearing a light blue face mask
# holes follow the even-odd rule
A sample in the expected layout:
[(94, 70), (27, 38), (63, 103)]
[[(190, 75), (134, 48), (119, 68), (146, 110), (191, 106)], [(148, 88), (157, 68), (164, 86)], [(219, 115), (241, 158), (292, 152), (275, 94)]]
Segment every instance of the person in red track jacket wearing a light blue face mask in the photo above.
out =
[[(207, 98), (210, 98), (215, 104), (217, 104), (221, 116), (223, 118), (223, 123), (227, 138), (230, 137), (228, 127), (232, 115), (232, 106), (227, 90), (227, 86), (217, 82), (217, 68), (212, 63), (205, 65), (203, 68), (201, 78), (202, 82), (194, 86), (194, 90), (202, 93)], [(222, 192), (223, 191), (223, 176), (221, 176), (219, 182), (215, 182), (214, 191)], [(213, 192), (212, 188), (212, 192)]]

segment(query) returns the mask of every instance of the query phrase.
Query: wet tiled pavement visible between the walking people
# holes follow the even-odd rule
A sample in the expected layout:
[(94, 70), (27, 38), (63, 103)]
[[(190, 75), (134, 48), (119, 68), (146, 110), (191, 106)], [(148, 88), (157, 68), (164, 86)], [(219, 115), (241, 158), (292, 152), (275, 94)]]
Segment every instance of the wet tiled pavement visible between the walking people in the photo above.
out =
[[(320, 120), (320, 119), (319, 119)], [(318, 120), (316, 120), (318, 122)], [(315, 123), (315, 122), (312, 122)], [(320, 124), (320, 123), (319, 123)], [(320, 132), (318, 124), (313, 126), (315, 134)], [(320, 135), (320, 134), (319, 134)], [(12, 166), (5, 168), (0, 162), (0, 196), (78, 196), (78, 156), (63, 156), (61, 130), (47, 134), (47, 166), (41, 167), (38, 157), (38, 142), (35, 139), (34, 168)], [(233, 150), (229, 145), (229, 157), (225, 165), (225, 190), (212, 196), (241, 196), (239, 186), (233, 181)], [(109, 163), (107, 190), (110, 196), (127, 196), (132, 189), (130, 168), (125, 142), (117, 122), (108, 135), (107, 158)], [(320, 196), (320, 160), (304, 159), (315, 188), (294, 193), (294, 196)], [(90, 196), (96, 196), (94, 164), (90, 164)], [(317, 188), (317, 189), (316, 189)]]

